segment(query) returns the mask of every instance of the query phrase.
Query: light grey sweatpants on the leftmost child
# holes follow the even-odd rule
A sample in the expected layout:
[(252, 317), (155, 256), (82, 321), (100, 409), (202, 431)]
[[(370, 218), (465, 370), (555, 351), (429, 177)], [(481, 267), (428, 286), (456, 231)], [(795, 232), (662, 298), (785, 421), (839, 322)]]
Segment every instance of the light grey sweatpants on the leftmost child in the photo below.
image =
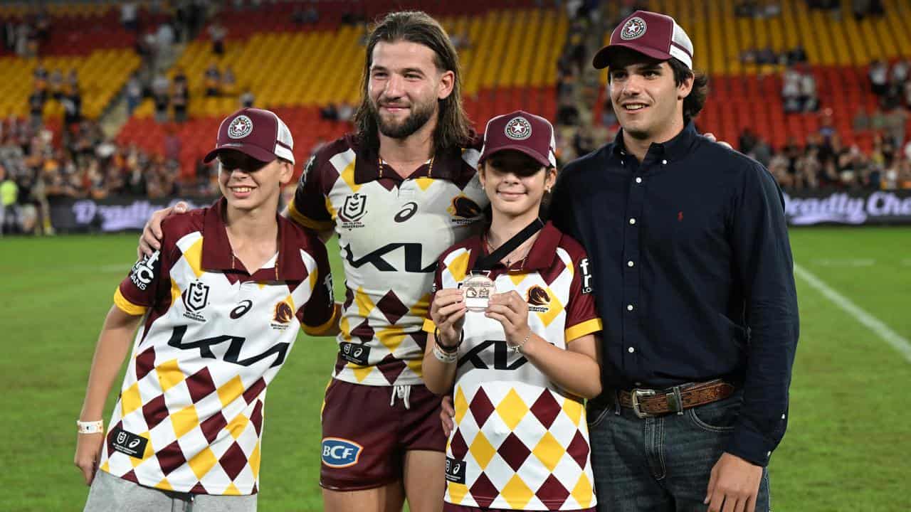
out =
[(98, 471), (84, 512), (256, 512), (256, 496), (211, 496), (140, 486)]

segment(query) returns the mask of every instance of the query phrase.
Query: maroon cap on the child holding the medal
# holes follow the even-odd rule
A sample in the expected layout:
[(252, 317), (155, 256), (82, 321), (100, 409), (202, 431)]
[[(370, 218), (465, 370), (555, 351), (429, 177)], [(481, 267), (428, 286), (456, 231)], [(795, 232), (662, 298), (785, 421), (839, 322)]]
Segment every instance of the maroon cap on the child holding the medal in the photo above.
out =
[(478, 162), (505, 149), (515, 149), (546, 167), (557, 167), (554, 127), (545, 118), (517, 110), (487, 121)]

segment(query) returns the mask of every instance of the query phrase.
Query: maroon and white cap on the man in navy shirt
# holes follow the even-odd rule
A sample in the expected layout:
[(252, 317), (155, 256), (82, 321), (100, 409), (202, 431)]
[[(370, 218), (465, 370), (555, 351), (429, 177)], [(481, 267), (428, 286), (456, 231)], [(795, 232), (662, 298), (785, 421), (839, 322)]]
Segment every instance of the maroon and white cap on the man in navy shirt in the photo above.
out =
[(610, 34), (608, 46), (595, 54), (591, 64), (598, 69), (609, 67), (618, 48), (630, 48), (660, 60), (675, 57), (692, 69), (690, 36), (669, 15), (636, 11), (627, 16)]

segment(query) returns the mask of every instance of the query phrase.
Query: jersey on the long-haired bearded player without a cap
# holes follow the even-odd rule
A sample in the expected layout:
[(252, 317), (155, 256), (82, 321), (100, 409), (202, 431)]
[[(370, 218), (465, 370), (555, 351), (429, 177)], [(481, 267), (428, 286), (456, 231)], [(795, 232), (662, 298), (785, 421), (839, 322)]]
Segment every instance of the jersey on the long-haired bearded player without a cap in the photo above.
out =
[(478, 148), (455, 148), (406, 179), (375, 149), (339, 138), (307, 164), (289, 207), (293, 220), (338, 234), (345, 272), (342, 333), (333, 376), (367, 385), (423, 384), (436, 261), (476, 234), (489, 201)]

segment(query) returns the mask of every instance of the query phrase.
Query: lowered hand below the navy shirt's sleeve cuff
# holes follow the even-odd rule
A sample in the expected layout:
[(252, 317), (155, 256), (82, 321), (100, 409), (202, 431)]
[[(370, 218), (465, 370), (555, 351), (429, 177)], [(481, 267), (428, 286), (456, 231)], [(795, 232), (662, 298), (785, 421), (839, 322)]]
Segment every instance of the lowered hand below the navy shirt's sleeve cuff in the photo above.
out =
[(762, 478), (762, 466), (723, 453), (711, 468), (703, 503), (709, 506), (709, 512), (754, 512)]

